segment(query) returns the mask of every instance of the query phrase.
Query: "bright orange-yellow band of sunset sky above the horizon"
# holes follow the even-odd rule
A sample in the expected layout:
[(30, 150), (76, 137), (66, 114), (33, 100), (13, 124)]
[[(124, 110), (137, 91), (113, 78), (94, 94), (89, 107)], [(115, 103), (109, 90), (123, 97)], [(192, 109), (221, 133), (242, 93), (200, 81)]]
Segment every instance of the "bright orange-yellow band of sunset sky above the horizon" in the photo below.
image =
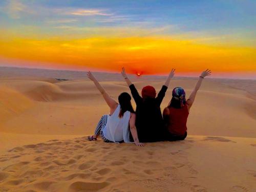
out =
[(45, 68), (55, 69), (120, 71), (125, 66), (130, 73), (143, 74), (166, 73), (173, 67), (180, 72), (205, 68), (215, 72), (256, 71), (254, 48), (203, 45), (169, 36), (99, 36), (69, 40), (12, 37), (0, 39), (0, 56), (46, 62)]

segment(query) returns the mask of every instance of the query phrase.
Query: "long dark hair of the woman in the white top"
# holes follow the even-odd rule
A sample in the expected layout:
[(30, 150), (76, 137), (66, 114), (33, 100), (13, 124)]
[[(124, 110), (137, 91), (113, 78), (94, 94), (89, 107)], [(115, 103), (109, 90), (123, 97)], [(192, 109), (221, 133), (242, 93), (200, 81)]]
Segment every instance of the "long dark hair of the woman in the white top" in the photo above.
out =
[(123, 114), (126, 111), (130, 111), (131, 113), (135, 113), (132, 103), (131, 103), (131, 96), (129, 93), (123, 92), (118, 96), (118, 102), (121, 106), (120, 112), (119, 112), (119, 117), (123, 117)]

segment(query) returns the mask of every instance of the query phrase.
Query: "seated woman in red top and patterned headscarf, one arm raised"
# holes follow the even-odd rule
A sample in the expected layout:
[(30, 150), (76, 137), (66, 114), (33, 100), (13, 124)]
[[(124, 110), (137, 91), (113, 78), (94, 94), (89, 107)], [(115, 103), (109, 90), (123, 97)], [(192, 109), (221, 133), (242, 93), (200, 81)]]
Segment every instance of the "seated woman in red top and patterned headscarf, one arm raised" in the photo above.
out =
[(210, 70), (203, 71), (196, 87), (186, 100), (184, 89), (177, 87), (173, 90), (173, 97), (168, 106), (163, 111), (163, 119), (166, 128), (166, 140), (177, 141), (184, 140), (187, 136), (187, 117), (189, 110), (195, 100), (204, 77), (211, 74)]

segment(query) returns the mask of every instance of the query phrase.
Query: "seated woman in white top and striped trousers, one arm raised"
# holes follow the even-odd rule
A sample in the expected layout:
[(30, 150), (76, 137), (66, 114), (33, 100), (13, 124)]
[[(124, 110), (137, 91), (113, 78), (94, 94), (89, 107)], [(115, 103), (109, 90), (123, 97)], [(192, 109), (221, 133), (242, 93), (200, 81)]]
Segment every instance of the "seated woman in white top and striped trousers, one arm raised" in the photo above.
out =
[[(89, 136), (90, 141), (96, 141), (100, 135), (105, 142), (130, 142), (130, 130), (133, 140), (137, 146), (143, 146), (139, 142), (135, 126), (136, 115), (131, 103), (129, 93), (121, 93), (118, 97), (119, 104), (112, 99), (108, 93), (101, 87), (94, 75), (89, 71), (87, 73), (99, 92), (102, 94), (106, 103), (110, 107), (110, 115), (103, 115), (96, 127), (93, 136)], [(129, 130), (130, 125), (130, 130)]]

